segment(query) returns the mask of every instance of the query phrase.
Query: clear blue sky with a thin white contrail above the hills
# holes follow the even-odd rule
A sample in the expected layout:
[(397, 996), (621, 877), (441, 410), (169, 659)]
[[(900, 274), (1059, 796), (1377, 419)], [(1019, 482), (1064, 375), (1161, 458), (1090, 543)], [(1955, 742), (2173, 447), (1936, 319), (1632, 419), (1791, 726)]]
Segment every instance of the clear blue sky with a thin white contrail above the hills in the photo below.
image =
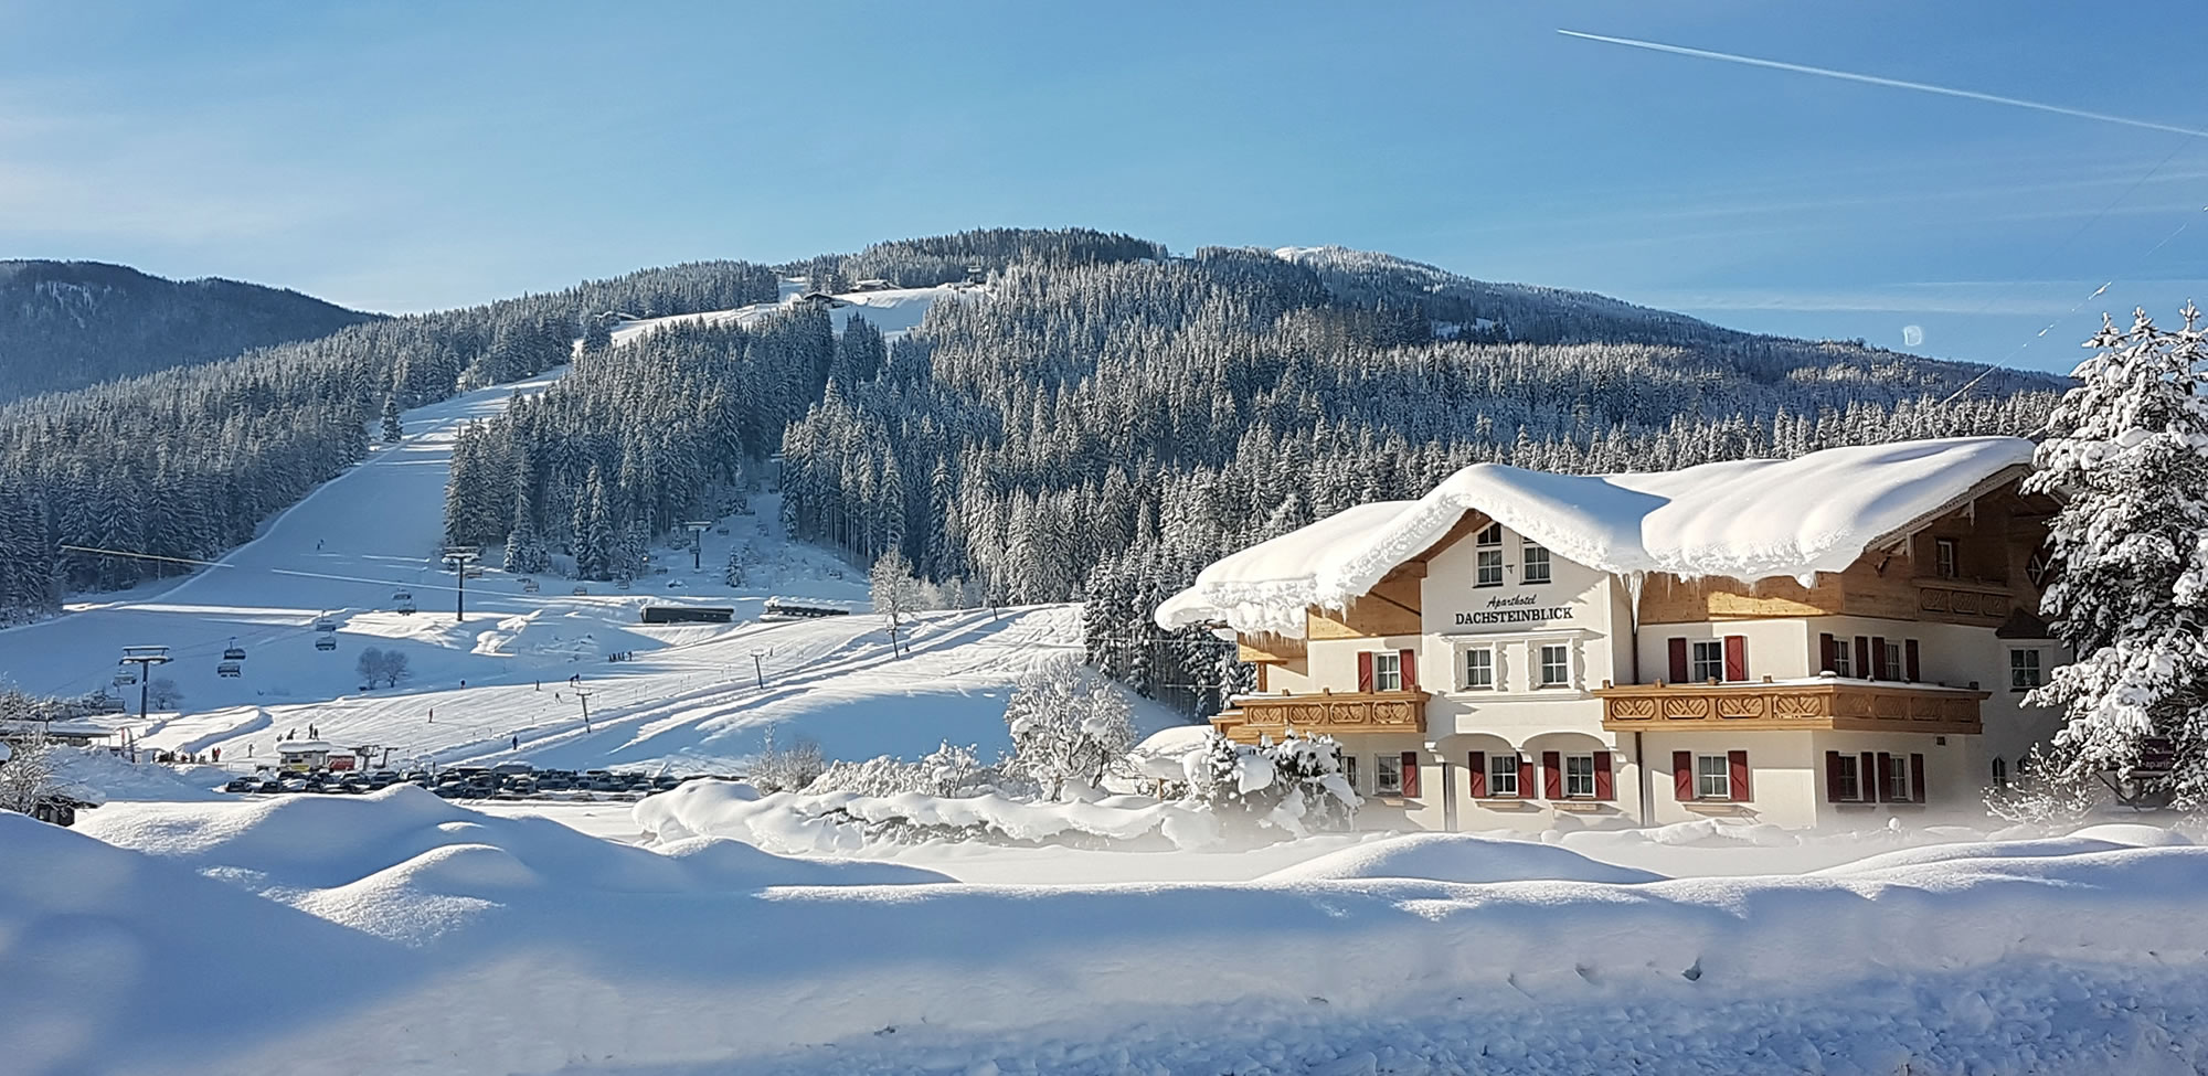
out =
[(1919, 326), (1910, 351), (2067, 368), (2102, 309), (2208, 300), (2208, 139), (1557, 29), (2208, 128), (2195, 18), (0, 0), (0, 256), (420, 311), (1086, 225), (1177, 251), (1384, 249), (1894, 348)]

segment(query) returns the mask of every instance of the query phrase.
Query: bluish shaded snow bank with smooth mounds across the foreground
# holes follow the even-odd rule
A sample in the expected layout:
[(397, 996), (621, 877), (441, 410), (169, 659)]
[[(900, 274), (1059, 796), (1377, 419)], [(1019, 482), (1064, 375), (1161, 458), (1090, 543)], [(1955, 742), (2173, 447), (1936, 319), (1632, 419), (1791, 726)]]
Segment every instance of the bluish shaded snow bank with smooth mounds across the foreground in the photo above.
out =
[(408, 787), (84, 829), (0, 816), (9, 1072), (2208, 1065), (2208, 849), (2133, 827), (1788, 878), (1457, 836), (1062, 886), (623, 847)]

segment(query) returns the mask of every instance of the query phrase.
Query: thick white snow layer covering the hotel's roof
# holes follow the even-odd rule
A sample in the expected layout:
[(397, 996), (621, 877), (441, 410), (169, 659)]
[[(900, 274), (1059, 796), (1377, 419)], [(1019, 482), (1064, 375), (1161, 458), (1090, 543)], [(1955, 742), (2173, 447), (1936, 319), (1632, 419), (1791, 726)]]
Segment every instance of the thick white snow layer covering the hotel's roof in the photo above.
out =
[(1952, 437), (1702, 463), (1676, 472), (1548, 474), (1475, 463), (1418, 501), (1382, 501), (1221, 558), (1157, 606), (1157, 624), (1225, 622), (1303, 635), (1482, 512), (1557, 556), (1621, 575), (1735, 580), (1841, 571), (1864, 549), (2027, 467), (2031, 441)]

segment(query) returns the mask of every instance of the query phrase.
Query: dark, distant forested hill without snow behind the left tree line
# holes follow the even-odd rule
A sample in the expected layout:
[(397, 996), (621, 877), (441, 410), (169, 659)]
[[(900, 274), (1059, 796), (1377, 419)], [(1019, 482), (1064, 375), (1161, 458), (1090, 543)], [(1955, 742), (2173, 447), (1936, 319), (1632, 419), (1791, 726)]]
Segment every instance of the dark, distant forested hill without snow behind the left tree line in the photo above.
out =
[(373, 318), (236, 280), (0, 260), (0, 401), (225, 359)]

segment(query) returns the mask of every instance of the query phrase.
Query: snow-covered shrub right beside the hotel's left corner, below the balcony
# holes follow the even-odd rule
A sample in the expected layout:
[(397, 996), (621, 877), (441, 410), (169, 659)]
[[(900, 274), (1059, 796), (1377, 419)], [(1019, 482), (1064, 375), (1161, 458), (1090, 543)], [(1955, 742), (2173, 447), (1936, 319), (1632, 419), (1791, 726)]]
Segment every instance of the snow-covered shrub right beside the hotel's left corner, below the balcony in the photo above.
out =
[(1243, 836), (1278, 829), (1307, 836), (1349, 829), (1362, 803), (1342, 776), (1342, 747), (1334, 736), (1298, 736), (1256, 745), (1217, 732), (1203, 752), (1188, 756), (1190, 798), (1236, 825)]

